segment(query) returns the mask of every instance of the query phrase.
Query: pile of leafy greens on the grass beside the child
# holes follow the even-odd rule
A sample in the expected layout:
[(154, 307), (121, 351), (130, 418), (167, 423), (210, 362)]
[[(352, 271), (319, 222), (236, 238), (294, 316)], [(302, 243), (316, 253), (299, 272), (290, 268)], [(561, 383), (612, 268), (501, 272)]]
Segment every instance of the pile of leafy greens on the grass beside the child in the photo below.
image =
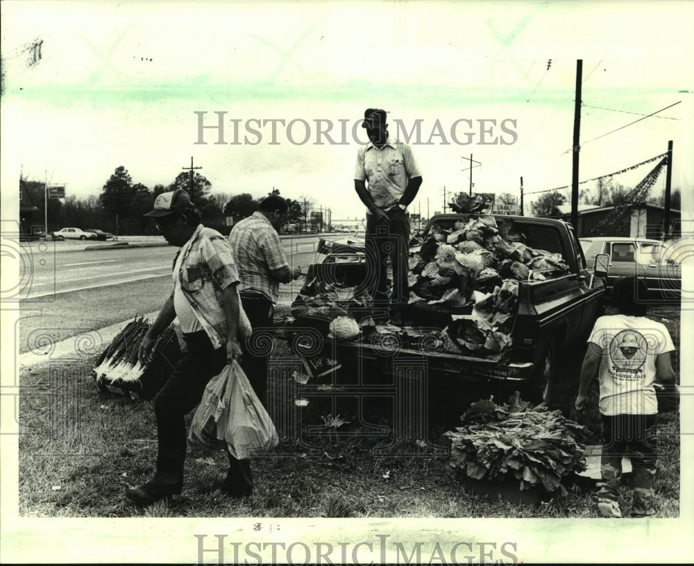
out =
[[(539, 408), (538, 408), (539, 409)], [(516, 479), (521, 490), (543, 486), (564, 494), (561, 479), (586, 469), (584, 427), (561, 411), (534, 409), (514, 394), (498, 406), (491, 400), (471, 405), (462, 427), (446, 432), (451, 440), (448, 465), (454, 474), (472, 479)]]

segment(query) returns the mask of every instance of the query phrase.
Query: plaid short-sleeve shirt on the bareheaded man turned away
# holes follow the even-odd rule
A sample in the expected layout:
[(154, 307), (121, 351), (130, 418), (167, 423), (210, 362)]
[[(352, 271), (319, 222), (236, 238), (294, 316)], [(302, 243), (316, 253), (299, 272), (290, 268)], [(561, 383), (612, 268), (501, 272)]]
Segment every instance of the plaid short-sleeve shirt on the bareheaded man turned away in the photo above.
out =
[(229, 243), (241, 278), (239, 289), (262, 293), (277, 302), (280, 284), (270, 277), (270, 271), (288, 263), (285, 248), (270, 221), (254, 212), (232, 228)]

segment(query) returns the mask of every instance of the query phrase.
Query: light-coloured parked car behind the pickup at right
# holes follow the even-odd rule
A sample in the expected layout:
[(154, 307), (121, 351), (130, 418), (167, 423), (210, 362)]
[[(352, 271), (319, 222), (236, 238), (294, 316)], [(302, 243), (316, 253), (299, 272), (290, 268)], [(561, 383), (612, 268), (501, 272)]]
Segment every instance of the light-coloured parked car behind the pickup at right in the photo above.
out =
[[(682, 293), (682, 265), (669, 246), (660, 240), (616, 236), (581, 238), (581, 247), (589, 270), (595, 255), (609, 255), (607, 293), (620, 277), (636, 276), (648, 286), (648, 298), (657, 302), (679, 302)], [(669, 258), (669, 259), (668, 259)]]

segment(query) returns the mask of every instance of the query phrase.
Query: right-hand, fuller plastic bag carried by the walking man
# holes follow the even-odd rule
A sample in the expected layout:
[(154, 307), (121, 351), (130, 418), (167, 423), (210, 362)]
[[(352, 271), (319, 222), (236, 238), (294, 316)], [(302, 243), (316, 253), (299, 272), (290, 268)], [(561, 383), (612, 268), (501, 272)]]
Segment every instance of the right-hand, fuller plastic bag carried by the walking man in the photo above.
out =
[(255, 395), (251, 383), (237, 361), (226, 366), (229, 410), (224, 440), (235, 458), (255, 458), (268, 454), (278, 445), (270, 415)]

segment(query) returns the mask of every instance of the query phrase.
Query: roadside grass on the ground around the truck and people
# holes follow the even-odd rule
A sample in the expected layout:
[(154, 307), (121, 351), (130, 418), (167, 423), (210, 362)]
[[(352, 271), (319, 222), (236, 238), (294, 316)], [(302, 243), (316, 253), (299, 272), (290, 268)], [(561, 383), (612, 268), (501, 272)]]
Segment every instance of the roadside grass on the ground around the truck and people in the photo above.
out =
[[(673, 320), (676, 321), (674, 316)], [(674, 325), (678, 330), (679, 325)], [(679, 350), (679, 332), (670, 331)], [(282, 352), (278, 352), (281, 354)], [(579, 354), (576, 354), (579, 357)], [(214, 487), (226, 473), (226, 456), (189, 444), (180, 496), (138, 508), (124, 490), (151, 478), (156, 427), (151, 402), (131, 402), (100, 393), (89, 377), (93, 359), (67, 372), (49, 364), (20, 376), (19, 514), (28, 517), (598, 517), (595, 483), (566, 481), (567, 495), (536, 506), (487, 498), (468, 490), (446, 468), (434, 421), (428, 438), (393, 440), (369, 434), (356, 413), (330, 413), (311, 402), (301, 425), (309, 441), (282, 440), (276, 451), (254, 461), (251, 497), (232, 499)], [(579, 362), (578, 362), (579, 363)], [(65, 366), (65, 363), (63, 363)], [(67, 367), (67, 366), (66, 366)], [(56, 377), (57, 376), (57, 377)], [(596, 385), (596, 384), (595, 384)], [(586, 444), (598, 444), (597, 386), (589, 409), (574, 415), (586, 426)], [(568, 411), (575, 384), (557, 388), (557, 407)], [(488, 396), (487, 396), (488, 397)], [(495, 397), (496, 399), (497, 397)], [(57, 399), (57, 402), (56, 402)], [(283, 400), (288, 405), (294, 399)], [(466, 405), (458, 407), (462, 414)], [(432, 411), (436, 416), (438, 411)], [(188, 417), (188, 423), (192, 413)], [(346, 421), (346, 422), (341, 422)], [(679, 414), (659, 418), (659, 517), (679, 516)], [(427, 440), (428, 442), (422, 442)], [(625, 476), (620, 504), (631, 499)], [(546, 498), (545, 498), (546, 499)]]

